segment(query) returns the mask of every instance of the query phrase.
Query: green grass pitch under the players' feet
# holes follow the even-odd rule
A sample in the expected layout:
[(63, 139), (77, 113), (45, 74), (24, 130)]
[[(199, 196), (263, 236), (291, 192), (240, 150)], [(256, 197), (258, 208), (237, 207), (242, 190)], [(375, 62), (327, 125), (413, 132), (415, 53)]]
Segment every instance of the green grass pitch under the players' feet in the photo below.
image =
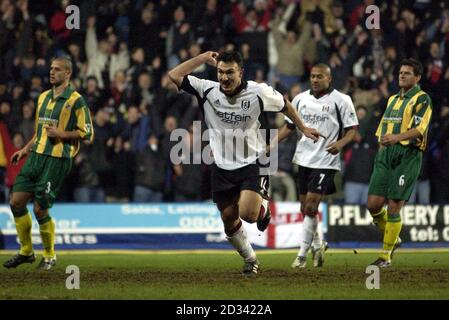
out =
[[(0, 262), (13, 252), (1, 252)], [(399, 250), (381, 269), (380, 289), (368, 290), (374, 251), (329, 250), (323, 268), (292, 270), (296, 251), (258, 250), (257, 278), (241, 274), (233, 251), (58, 252), (50, 272), (25, 264), (0, 267), (5, 299), (449, 299), (449, 251)], [(80, 270), (80, 289), (66, 288), (66, 267)]]

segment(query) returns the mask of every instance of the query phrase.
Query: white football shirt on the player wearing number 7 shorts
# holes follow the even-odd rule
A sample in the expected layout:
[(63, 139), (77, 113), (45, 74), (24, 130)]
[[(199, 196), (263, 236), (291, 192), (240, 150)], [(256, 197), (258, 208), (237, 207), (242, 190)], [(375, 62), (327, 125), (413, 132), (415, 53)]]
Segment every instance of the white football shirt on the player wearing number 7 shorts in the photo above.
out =
[[(316, 98), (311, 90), (301, 92), (292, 101), (293, 107), (307, 127), (317, 129), (322, 135), (318, 142), (304, 135), (296, 145), (293, 162), (308, 168), (341, 170), (340, 154), (332, 155), (326, 147), (339, 140), (345, 128), (358, 126), (351, 97), (335, 89)], [(285, 117), (288, 123), (292, 121)]]

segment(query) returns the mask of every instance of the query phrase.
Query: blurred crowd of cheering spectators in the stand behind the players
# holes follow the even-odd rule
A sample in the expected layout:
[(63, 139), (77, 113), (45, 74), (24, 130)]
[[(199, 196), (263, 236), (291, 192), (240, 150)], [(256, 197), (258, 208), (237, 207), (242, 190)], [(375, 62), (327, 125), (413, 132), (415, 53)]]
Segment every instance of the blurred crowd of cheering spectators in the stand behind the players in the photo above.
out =
[[(79, 29), (65, 27), (68, 5), (80, 9)], [(380, 9), (378, 30), (365, 27), (368, 5)], [(329, 64), (333, 87), (352, 97), (360, 121), (356, 141), (341, 153), (338, 193), (330, 200), (361, 204), (377, 152), (374, 132), (387, 98), (399, 90), (399, 62), (418, 59), (433, 118), (410, 202), (449, 201), (449, 3), (431, 0), (0, 0), (0, 199), (7, 201), (20, 169), (9, 157), (32, 137), (36, 99), (50, 88), (49, 62), (67, 55), (96, 136), (75, 158), (59, 201), (209, 200), (207, 166), (169, 160), (170, 133), (191, 131), (201, 113), (167, 77), (207, 50), (239, 50), (246, 79), (290, 99), (309, 89), (313, 64)], [(216, 80), (209, 66), (194, 75)], [(273, 114), (270, 126), (283, 121)], [(280, 145), (274, 200), (297, 199), (297, 138)]]

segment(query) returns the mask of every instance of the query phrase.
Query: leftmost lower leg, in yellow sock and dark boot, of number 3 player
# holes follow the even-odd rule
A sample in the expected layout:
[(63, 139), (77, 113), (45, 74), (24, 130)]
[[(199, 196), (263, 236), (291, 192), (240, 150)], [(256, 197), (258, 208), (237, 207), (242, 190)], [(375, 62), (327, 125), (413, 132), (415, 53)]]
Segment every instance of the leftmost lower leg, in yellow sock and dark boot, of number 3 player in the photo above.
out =
[(20, 250), (11, 259), (6, 261), (3, 266), (5, 268), (16, 268), (22, 263), (33, 263), (36, 258), (33, 252), (33, 244), (31, 242), (31, 215), (27, 210), (27, 203), (33, 197), (29, 192), (13, 192), (11, 194), (9, 205), (14, 216), (17, 235), (20, 241)]

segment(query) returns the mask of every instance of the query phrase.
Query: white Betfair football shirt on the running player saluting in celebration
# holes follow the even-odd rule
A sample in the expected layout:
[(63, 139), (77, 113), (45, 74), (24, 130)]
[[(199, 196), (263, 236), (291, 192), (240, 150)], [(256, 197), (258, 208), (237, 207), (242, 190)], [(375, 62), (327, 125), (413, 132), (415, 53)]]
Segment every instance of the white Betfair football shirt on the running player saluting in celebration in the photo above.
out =
[(243, 81), (241, 90), (232, 97), (220, 90), (219, 82), (191, 75), (184, 77), (181, 89), (197, 97), (215, 164), (225, 170), (251, 164), (265, 152), (267, 140), (260, 131), (261, 116), (286, 107), (278, 91), (254, 81)]

